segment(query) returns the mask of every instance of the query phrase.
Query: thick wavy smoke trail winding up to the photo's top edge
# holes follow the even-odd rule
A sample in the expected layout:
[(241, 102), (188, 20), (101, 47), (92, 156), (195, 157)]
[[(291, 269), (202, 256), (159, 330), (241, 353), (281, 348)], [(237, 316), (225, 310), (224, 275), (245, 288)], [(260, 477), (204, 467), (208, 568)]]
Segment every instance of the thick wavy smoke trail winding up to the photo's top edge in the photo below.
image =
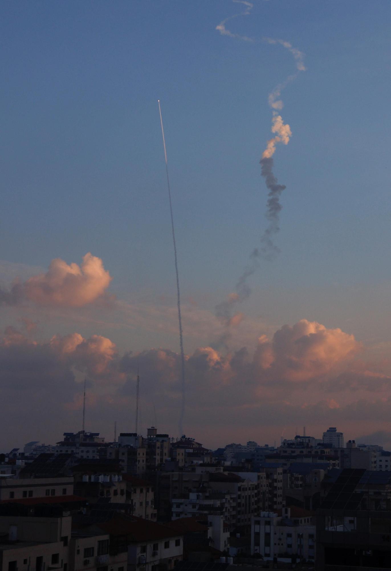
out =
[[(250, 2), (246, 2), (244, 0), (233, 0), (233, 2), (243, 4), (243, 6), (245, 6), (245, 11), (239, 14), (234, 14), (229, 18), (225, 18), (218, 26), (216, 26), (216, 30), (218, 30), (221, 35), (226, 35), (230, 38), (239, 39), (245, 42), (255, 43), (256, 40), (254, 38), (234, 34), (226, 28), (227, 22), (231, 19), (237, 18), (238, 16), (248, 16), (253, 7)], [(222, 301), (222, 303), (219, 303), (216, 306), (216, 315), (222, 320), (226, 331), (215, 345), (226, 345), (226, 342), (231, 335), (231, 328), (238, 325), (243, 319), (242, 313), (235, 313), (233, 315), (233, 308), (235, 305), (241, 303), (241, 301), (250, 296), (251, 288), (247, 283), (247, 279), (258, 269), (259, 260), (272, 261), (280, 252), (279, 248), (274, 243), (274, 236), (280, 229), (279, 213), (282, 210), (280, 196), (282, 191), (286, 189), (286, 186), (284, 184), (279, 184), (273, 173), (274, 163), (272, 156), (275, 153), (276, 144), (288, 144), (292, 136), (290, 126), (288, 124), (284, 124), (282, 116), (278, 113), (278, 111), (280, 111), (284, 106), (280, 99), (280, 95), (288, 83), (293, 81), (300, 71), (305, 71), (306, 67), (304, 67), (303, 63), (303, 53), (293, 47), (290, 42), (273, 38), (263, 38), (263, 41), (269, 44), (280, 44), (286, 48), (295, 58), (296, 73), (290, 75), (283, 83), (276, 86), (268, 96), (268, 103), (273, 110), (271, 132), (274, 136), (268, 140), (266, 149), (263, 151), (262, 158), (259, 161), (261, 166), (260, 174), (265, 179), (266, 187), (269, 191), (266, 203), (266, 219), (268, 220), (268, 226), (260, 239), (260, 248), (254, 248), (251, 252), (250, 263), (245, 270), (243, 270), (241, 276), (239, 276), (238, 282), (235, 285), (235, 291), (230, 293), (225, 301)]]

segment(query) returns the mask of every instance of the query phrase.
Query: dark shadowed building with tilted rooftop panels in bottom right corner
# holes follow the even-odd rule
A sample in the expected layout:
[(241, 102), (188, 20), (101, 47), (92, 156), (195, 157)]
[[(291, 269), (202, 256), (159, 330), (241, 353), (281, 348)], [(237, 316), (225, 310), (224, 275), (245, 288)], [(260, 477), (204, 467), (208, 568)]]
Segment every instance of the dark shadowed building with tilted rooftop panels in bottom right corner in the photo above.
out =
[(316, 569), (389, 569), (391, 472), (344, 469), (328, 478), (316, 516)]

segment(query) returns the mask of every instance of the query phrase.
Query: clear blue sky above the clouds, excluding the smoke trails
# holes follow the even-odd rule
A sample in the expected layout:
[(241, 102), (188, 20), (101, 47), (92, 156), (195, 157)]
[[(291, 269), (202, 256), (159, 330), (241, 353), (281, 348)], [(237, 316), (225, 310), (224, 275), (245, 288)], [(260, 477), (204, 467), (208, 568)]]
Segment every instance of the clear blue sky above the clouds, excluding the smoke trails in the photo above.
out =
[[(47, 268), (91, 251), (119, 299), (175, 307), (160, 98), (182, 296), (213, 312), (266, 227), (267, 96), (295, 66), (262, 38), (282, 38), (307, 66), (284, 90), (293, 136), (274, 156), (287, 185), (282, 252), (251, 278), (241, 310), (259, 317), (259, 334), (306, 317), (389, 342), (390, 2), (254, 0), (227, 26), (255, 43), (215, 30), (242, 10), (229, 0), (2, 3), (1, 258)], [(19, 318), (4, 315), (4, 325)], [(39, 335), (74, 331), (73, 319), (46, 313)], [(78, 331), (123, 351), (178, 348), (174, 332), (108, 321)], [(202, 331), (185, 348), (209, 343)]]

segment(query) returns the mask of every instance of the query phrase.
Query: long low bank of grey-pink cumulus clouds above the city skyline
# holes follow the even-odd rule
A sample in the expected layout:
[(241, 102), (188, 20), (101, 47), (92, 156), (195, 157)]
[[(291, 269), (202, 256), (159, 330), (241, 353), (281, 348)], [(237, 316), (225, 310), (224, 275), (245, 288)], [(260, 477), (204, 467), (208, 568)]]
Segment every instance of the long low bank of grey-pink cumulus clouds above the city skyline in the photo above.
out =
[[(199, 347), (186, 356), (191, 406), (185, 424), (201, 433), (204, 425), (221, 431), (225, 427), (228, 437), (227, 417), (235, 430), (297, 425), (302, 419), (307, 426), (374, 417), (384, 422), (389, 414), (390, 377), (357, 361), (360, 349), (353, 335), (307, 320), (284, 325), (270, 338), (259, 337), (255, 351), (243, 347), (223, 355), (214, 348)], [(85, 338), (75, 332), (39, 342), (8, 327), (0, 341), (0, 365), (0, 400), (11, 417), (23, 413), (28, 423), (37, 411), (46, 419), (57, 416), (57, 412), (48, 414), (48, 406), (62, 415), (76, 415), (83, 406), (80, 382), (86, 376), (88, 415), (96, 423), (89, 429), (99, 430), (102, 423), (123, 415), (125, 431), (133, 428), (139, 369), (142, 415), (154, 401), (162, 429), (176, 434), (180, 355), (170, 349), (120, 355), (116, 345), (100, 335)], [(381, 387), (369, 399), (371, 383)], [(20, 391), (25, 392), (23, 398)], [(27, 401), (31, 411), (21, 411)]]

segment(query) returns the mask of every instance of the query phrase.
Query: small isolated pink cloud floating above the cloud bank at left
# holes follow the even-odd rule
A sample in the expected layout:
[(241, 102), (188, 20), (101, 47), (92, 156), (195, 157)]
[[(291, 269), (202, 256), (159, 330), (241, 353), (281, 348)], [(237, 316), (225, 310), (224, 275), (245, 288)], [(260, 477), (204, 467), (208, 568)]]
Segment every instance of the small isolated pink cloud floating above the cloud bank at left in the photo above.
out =
[(80, 264), (56, 258), (46, 273), (16, 281), (9, 291), (0, 289), (0, 304), (17, 305), (23, 300), (52, 307), (82, 307), (102, 297), (111, 276), (100, 258), (88, 252)]

